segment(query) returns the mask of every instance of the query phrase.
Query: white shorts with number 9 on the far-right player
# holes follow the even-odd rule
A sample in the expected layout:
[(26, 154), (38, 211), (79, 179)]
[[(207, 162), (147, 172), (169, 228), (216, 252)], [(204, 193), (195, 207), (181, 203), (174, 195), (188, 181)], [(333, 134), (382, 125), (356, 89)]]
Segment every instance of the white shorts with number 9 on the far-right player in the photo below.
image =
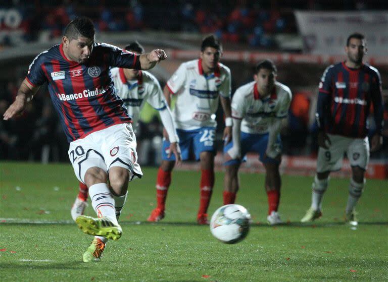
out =
[(349, 138), (341, 135), (328, 134), (331, 145), (326, 150), (319, 147), (317, 173), (339, 171), (342, 168), (344, 153), (347, 154), (351, 166), (359, 166), (366, 170), (369, 163), (368, 137)]

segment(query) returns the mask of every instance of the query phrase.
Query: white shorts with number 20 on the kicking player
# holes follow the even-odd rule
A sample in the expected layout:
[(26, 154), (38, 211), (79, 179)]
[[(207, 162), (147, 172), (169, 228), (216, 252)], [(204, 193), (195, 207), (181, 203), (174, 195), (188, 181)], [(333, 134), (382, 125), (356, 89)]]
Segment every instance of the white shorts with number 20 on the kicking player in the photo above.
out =
[(77, 179), (84, 182), (86, 171), (93, 166), (106, 173), (113, 166), (121, 166), (133, 177), (143, 175), (137, 163), (136, 137), (130, 123), (118, 124), (87, 135), (70, 143), (69, 158)]

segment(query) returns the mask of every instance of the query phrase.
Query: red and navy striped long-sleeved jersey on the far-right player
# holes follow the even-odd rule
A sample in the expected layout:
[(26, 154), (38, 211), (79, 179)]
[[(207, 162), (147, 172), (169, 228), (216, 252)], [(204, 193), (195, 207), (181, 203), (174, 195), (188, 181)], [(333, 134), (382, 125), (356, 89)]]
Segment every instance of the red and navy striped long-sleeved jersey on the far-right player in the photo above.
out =
[(319, 83), (318, 127), (330, 134), (364, 138), (371, 103), (376, 131), (381, 133), (383, 104), (377, 69), (369, 65), (351, 69), (344, 62), (331, 65)]

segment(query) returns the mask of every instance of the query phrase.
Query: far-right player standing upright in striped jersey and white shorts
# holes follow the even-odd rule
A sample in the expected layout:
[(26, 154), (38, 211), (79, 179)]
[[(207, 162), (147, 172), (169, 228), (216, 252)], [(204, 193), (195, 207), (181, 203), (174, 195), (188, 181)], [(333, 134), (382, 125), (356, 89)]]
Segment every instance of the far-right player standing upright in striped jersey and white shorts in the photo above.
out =
[(341, 170), (344, 153), (352, 166), (346, 221), (357, 225), (355, 206), (365, 185), (365, 170), (369, 162), (367, 117), (373, 103), (376, 133), (371, 138), (371, 151), (382, 144), (383, 106), (381, 79), (377, 69), (363, 64), (366, 41), (362, 34), (348, 37), (345, 62), (329, 66), (319, 83), (317, 123), (318, 161), (312, 185), (311, 207), (302, 222), (313, 221), (322, 215), (322, 197), (329, 174)]

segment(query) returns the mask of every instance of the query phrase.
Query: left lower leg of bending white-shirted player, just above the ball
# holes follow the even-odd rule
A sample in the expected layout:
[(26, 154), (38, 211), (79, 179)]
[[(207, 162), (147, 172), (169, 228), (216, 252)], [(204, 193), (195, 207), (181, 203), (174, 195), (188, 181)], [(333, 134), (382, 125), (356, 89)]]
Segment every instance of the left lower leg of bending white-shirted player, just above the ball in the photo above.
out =
[(224, 205), (234, 204), (239, 189), (238, 168), (239, 163), (225, 165), (224, 176)]

